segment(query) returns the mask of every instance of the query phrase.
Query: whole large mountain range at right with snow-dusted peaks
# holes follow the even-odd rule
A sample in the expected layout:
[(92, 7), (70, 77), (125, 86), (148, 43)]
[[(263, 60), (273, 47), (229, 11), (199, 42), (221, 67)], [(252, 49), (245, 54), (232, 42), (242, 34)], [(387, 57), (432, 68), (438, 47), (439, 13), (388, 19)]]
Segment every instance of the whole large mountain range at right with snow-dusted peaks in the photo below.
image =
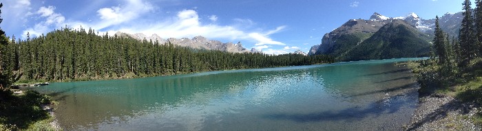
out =
[[(462, 18), (461, 12), (447, 13), (439, 23), (449, 36), (458, 36)], [(308, 55), (326, 54), (341, 61), (428, 56), (434, 23), (415, 13), (387, 17), (375, 12), (368, 20), (350, 19), (325, 34)]]

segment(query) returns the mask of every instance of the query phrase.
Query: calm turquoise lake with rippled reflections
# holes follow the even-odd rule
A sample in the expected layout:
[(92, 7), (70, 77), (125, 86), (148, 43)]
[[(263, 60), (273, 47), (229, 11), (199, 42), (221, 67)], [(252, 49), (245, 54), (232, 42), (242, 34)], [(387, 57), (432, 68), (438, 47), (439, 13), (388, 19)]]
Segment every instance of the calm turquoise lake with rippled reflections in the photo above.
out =
[(401, 58), (59, 82), (65, 130), (401, 130), (418, 85)]

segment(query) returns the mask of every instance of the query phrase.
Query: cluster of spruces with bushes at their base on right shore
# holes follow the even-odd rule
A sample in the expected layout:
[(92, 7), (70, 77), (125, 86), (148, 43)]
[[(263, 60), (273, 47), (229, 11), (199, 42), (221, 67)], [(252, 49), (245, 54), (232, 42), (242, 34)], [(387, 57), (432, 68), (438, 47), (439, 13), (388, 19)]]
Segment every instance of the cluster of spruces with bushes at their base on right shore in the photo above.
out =
[(436, 18), (431, 58), (419, 62), (415, 70), (426, 91), (464, 84), (482, 76), (482, 1), (476, 0), (476, 8), (472, 9), (470, 0), (465, 0), (463, 10), (459, 38), (450, 38), (443, 32), (439, 17)]

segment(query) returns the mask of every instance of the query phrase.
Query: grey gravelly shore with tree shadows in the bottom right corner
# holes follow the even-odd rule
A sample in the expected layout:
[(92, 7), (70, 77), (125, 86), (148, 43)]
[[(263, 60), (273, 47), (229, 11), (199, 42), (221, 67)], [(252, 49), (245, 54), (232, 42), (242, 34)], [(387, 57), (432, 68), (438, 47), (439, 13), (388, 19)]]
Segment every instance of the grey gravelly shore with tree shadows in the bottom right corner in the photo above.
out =
[(446, 95), (419, 97), (419, 106), (404, 130), (481, 130), (470, 120), (474, 104), (463, 104)]

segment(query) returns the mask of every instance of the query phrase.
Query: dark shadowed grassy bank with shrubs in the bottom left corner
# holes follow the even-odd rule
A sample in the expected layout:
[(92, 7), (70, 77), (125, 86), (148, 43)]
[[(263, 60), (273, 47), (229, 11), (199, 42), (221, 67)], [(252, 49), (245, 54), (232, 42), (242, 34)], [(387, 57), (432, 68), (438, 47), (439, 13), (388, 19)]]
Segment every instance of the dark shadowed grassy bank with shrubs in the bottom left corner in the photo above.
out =
[(54, 118), (44, 110), (53, 104), (48, 95), (36, 91), (24, 91), (21, 95), (0, 91), (0, 131), (56, 130), (51, 124)]

